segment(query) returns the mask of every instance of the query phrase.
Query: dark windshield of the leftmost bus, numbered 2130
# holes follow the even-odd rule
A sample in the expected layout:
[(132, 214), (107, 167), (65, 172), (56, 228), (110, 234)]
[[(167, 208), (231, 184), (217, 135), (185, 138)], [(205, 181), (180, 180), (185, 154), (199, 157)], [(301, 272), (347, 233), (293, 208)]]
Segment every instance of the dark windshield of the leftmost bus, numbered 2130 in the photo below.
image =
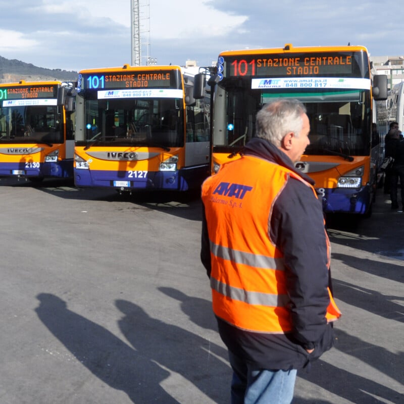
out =
[(0, 141), (7, 143), (63, 143), (57, 106), (0, 108)]

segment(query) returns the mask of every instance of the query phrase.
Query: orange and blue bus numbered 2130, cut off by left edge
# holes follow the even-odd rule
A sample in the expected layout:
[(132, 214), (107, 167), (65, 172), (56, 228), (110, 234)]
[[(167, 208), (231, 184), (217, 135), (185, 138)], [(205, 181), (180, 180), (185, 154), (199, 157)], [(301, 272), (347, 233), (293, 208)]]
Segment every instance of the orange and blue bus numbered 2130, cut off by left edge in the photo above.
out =
[(0, 176), (73, 176), (73, 87), (60, 81), (0, 84)]

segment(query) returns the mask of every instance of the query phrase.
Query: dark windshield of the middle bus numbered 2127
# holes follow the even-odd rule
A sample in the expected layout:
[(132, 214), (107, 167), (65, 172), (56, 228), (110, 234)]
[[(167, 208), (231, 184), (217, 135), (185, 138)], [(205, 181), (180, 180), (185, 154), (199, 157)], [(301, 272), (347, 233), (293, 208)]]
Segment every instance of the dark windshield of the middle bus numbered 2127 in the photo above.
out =
[(83, 144), (96, 141), (97, 145), (184, 145), (184, 118), (179, 99), (96, 99), (96, 93), (87, 94)]

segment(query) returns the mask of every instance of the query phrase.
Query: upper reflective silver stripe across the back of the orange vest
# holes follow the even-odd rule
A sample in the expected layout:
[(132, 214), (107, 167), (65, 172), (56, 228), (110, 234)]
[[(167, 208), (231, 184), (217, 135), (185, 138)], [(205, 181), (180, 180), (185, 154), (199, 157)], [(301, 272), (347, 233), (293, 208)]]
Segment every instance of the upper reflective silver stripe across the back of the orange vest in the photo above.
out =
[(211, 241), (211, 251), (215, 257), (229, 260), (236, 264), (249, 265), (255, 268), (268, 268), (283, 271), (285, 269), (283, 258), (273, 258), (251, 254), (250, 252), (238, 251), (235, 249), (223, 247)]

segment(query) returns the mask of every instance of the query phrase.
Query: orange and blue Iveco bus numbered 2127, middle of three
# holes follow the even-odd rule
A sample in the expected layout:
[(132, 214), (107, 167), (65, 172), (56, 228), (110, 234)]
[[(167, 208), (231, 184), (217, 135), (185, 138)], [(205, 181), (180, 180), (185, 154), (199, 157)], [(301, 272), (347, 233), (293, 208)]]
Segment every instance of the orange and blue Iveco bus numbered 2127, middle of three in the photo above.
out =
[(200, 186), (210, 167), (210, 97), (204, 85), (194, 98), (195, 69), (124, 65), (81, 71), (76, 186), (119, 192)]

